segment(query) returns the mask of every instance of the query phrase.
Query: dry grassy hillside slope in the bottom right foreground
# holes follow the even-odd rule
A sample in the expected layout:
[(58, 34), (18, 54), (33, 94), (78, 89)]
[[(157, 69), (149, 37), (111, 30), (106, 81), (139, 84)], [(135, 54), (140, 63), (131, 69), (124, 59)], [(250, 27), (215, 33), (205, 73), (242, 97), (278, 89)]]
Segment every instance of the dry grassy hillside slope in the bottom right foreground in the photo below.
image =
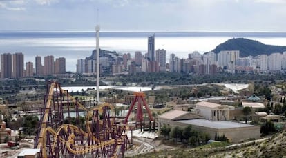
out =
[(283, 157), (286, 156), (286, 132), (269, 138), (247, 141), (241, 144), (212, 143), (197, 148), (179, 148), (135, 155), (135, 157)]

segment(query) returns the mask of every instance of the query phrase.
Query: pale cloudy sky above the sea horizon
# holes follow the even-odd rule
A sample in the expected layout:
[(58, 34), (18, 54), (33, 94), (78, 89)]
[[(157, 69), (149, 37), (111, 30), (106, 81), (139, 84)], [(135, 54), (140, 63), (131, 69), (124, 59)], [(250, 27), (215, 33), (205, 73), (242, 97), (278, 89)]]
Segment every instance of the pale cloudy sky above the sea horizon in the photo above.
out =
[(98, 23), (105, 31), (286, 32), (285, 8), (286, 0), (0, 0), (0, 31)]

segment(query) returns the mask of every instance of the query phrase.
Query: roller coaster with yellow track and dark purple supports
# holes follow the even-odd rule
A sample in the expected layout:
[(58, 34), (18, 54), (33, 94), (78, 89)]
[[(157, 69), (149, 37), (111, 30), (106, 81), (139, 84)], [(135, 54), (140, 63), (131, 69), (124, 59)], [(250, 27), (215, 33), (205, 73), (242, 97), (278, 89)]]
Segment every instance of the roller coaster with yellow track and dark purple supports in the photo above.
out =
[[(71, 108), (75, 110), (76, 124), (66, 124)], [(67, 90), (61, 89), (59, 83), (50, 81), (34, 148), (40, 149), (40, 157), (124, 157), (129, 143), (128, 126), (116, 124), (111, 110), (113, 107), (108, 103), (85, 108)], [(84, 128), (80, 124), (79, 111), (86, 113)], [(64, 118), (64, 112), (67, 118)]]

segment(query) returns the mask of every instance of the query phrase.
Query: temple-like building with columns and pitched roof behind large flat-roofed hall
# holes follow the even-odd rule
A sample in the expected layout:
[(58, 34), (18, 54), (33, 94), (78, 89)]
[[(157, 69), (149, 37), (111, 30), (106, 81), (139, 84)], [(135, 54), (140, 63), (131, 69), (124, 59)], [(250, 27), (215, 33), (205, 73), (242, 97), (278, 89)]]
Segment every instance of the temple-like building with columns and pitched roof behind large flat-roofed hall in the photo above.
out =
[(196, 104), (199, 115), (212, 121), (223, 121), (229, 119), (229, 108), (218, 103), (201, 101)]

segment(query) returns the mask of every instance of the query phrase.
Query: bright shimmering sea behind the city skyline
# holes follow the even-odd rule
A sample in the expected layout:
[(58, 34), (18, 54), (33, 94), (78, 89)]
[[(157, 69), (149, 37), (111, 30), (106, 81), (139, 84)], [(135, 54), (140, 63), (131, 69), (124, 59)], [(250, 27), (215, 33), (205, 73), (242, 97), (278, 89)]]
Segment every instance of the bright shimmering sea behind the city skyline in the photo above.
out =
[[(147, 52), (147, 38), (155, 35), (155, 50), (166, 50), (166, 61), (174, 53), (187, 58), (193, 51), (209, 52), (231, 38), (243, 37), (265, 44), (286, 46), (286, 32), (132, 32), (102, 31), (99, 47), (120, 54), (135, 51)], [(24, 61), (35, 63), (37, 55), (66, 58), (66, 70), (76, 71), (77, 59), (91, 55), (96, 48), (96, 34), (92, 31), (2, 31), (0, 54), (22, 52)]]

